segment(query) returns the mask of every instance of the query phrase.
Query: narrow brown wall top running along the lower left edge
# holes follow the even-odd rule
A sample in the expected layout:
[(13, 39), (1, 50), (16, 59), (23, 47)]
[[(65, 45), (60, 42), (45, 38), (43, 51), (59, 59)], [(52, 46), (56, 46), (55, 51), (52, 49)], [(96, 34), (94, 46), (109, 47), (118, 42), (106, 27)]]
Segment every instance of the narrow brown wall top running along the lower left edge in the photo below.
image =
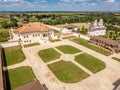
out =
[(3, 56), (2, 56), (2, 47), (0, 46), (0, 90), (4, 89), (4, 81), (3, 81)]

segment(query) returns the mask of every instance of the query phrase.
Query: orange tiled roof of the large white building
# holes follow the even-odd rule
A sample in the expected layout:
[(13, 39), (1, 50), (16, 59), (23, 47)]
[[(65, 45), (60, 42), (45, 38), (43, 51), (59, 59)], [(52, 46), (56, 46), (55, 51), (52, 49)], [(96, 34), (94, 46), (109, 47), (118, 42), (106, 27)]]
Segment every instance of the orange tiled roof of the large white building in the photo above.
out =
[(22, 34), (22, 33), (30, 33), (30, 32), (47, 32), (50, 30), (53, 29), (43, 23), (33, 22), (33, 23), (25, 24), (24, 26), (18, 29), (14, 29), (13, 32)]

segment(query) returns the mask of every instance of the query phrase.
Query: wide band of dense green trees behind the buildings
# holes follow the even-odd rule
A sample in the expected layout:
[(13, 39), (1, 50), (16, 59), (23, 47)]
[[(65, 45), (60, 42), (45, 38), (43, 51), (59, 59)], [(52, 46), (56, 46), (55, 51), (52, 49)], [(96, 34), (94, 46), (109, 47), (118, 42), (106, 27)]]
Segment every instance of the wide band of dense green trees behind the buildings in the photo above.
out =
[[(14, 18), (15, 17), (15, 18)], [(21, 21), (18, 19), (22, 19)], [(12, 14), (10, 22), (2, 22), (3, 28), (17, 27), (17, 22), (43, 22), (49, 25), (65, 24), (65, 23), (88, 23), (95, 19), (103, 19), (105, 23), (112, 25), (120, 25), (120, 14), (116, 13), (53, 13), (53, 14)]]

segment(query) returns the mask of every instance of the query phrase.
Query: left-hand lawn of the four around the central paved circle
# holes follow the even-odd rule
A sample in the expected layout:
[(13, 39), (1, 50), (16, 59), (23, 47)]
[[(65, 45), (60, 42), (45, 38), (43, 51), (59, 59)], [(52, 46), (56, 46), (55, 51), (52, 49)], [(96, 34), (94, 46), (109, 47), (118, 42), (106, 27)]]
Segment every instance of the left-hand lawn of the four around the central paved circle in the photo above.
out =
[(39, 51), (38, 55), (44, 62), (49, 62), (55, 59), (59, 59), (61, 54), (58, 53), (53, 48), (49, 48), (49, 49)]

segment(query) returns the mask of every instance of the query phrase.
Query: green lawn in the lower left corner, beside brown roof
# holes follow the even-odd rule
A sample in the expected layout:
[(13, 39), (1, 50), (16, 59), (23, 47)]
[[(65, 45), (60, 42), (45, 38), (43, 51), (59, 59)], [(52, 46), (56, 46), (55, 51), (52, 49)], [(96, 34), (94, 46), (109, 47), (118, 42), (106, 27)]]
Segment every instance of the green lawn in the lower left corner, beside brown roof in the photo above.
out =
[(8, 71), (11, 90), (34, 81), (36, 78), (29, 67), (19, 67)]

